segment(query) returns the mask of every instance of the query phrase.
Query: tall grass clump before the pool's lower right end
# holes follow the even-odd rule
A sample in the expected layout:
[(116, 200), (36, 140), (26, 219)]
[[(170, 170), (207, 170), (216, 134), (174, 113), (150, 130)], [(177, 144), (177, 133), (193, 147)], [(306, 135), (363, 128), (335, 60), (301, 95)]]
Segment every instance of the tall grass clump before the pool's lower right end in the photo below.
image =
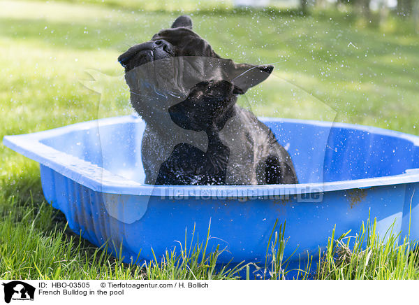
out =
[(417, 279), (419, 274), (417, 242), (392, 233), (376, 232), (373, 223), (362, 222), (358, 234), (329, 239), (328, 248), (316, 270), (322, 280), (402, 280)]

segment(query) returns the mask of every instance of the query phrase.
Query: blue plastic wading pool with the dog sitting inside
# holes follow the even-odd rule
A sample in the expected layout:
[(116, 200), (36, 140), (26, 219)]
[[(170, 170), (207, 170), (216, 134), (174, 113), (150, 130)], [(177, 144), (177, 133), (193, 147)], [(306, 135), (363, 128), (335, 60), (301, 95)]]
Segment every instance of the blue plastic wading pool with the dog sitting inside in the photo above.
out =
[[(97, 246), (122, 243), (126, 262), (179, 248), (186, 234), (228, 248), (220, 262), (265, 262), (274, 222), (286, 220), (286, 256), (307, 257), (336, 235), (358, 230), (369, 213), (384, 234), (419, 237), (419, 137), (390, 130), (305, 120), (261, 119), (288, 149), (299, 185), (153, 186), (143, 183), (145, 124), (107, 118), (3, 143), (41, 165), (45, 198), (74, 232)], [(140, 252), (141, 250), (141, 252)]]

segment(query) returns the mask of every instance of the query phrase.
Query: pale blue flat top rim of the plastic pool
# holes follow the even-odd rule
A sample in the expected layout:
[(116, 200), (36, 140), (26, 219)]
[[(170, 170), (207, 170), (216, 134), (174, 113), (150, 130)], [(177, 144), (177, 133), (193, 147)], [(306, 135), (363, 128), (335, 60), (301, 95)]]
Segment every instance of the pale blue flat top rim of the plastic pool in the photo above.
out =
[[(363, 132), (379, 134), (382, 136), (397, 136), (398, 138), (411, 141), (413, 146), (419, 147), (419, 136), (404, 134), (390, 129), (382, 129), (365, 125), (353, 125), (341, 122), (325, 122), (318, 120), (299, 120), (284, 118), (258, 118), (262, 122), (296, 122), (306, 125), (316, 125), (318, 127), (337, 127), (344, 129), (355, 129)], [(364, 178), (355, 180), (339, 180), (325, 183), (301, 183), (297, 185), (144, 185), (133, 180), (129, 180), (115, 173), (102, 169), (96, 164), (87, 162), (66, 152), (56, 150), (42, 143), (43, 140), (52, 136), (61, 136), (68, 132), (91, 129), (93, 127), (114, 125), (118, 123), (140, 122), (141, 118), (137, 115), (124, 115), (112, 118), (102, 118), (79, 122), (64, 127), (34, 132), (31, 134), (20, 134), (4, 136), (3, 145), (19, 152), (29, 159), (33, 159), (40, 164), (50, 167), (57, 173), (75, 182), (89, 187), (97, 192), (109, 194), (127, 194), (140, 196), (167, 196), (168, 194), (177, 197), (252, 197), (263, 196), (284, 196), (319, 192), (333, 192), (337, 190), (367, 189), (370, 187), (383, 185), (399, 185), (404, 183), (419, 182), (419, 168), (408, 169), (405, 173), (382, 176), (374, 178)]]

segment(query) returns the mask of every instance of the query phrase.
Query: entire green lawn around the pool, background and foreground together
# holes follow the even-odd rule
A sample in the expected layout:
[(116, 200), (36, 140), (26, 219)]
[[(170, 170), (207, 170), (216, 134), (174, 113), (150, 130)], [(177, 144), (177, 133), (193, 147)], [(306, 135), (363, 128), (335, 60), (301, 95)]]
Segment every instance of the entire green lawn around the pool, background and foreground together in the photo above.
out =
[[(258, 115), (337, 120), (419, 134), (419, 36), (393, 17), (378, 27), (346, 13), (234, 11), (229, 1), (203, 1), (199, 7), (189, 0), (158, 7), (150, 1), (100, 2), (0, 1), (1, 139), (130, 113), (118, 55), (184, 12), (193, 15), (194, 29), (222, 57), (277, 63), (274, 76), (240, 100)], [(87, 70), (100, 72), (89, 75)], [(98, 81), (88, 87), (103, 94), (82, 85), (92, 80), (92, 73)], [(220, 274), (205, 267), (212, 266), (219, 253), (208, 254), (207, 264), (192, 255), (187, 266), (168, 253), (163, 269), (157, 264), (130, 267), (109, 257), (70, 234), (63, 215), (45, 204), (36, 162), (4, 146), (0, 157), (0, 278), (237, 277), (235, 270)], [(283, 239), (274, 234), (272, 241), (277, 250), (270, 251), (277, 259), (267, 264), (277, 270), (270, 276), (281, 278), (286, 272), (279, 260)], [(392, 245), (390, 257), (405, 256), (384, 260), (377, 254), (384, 244), (372, 243), (368, 268), (355, 275), (353, 270), (358, 272), (367, 261), (365, 249), (351, 248), (358, 258), (348, 269), (337, 266), (336, 253), (330, 253), (319, 278), (418, 278), (416, 260), (406, 258), (413, 255), (407, 243)], [(203, 250), (196, 246), (196, 251)], [(374, 266), (410, 271), (376, 274), (369, 269), (372, 260), (378, 264)]]

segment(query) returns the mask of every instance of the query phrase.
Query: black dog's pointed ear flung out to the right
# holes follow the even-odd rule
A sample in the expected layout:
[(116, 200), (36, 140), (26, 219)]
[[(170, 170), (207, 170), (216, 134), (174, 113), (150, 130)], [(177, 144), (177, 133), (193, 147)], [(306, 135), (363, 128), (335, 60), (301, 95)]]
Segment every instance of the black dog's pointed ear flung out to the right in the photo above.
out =
[(274, 70), (274, 66), (263, 64), (254, 66), (252, 64), (235, 64), (231, 82), (234, 85), (234, 94), (244, 94), (253, 86), (262, 83), (263, 80), (270, 76)]

